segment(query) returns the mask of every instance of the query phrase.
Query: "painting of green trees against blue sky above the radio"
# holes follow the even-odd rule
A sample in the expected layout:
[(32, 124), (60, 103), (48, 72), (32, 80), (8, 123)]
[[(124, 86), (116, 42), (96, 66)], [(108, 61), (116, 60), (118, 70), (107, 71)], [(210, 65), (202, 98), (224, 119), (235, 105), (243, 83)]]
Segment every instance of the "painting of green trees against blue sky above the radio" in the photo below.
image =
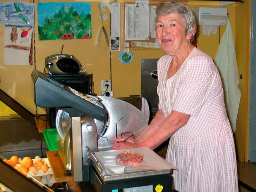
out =
[(38, 2), (39, 40), (92, 38), (90, 2)]

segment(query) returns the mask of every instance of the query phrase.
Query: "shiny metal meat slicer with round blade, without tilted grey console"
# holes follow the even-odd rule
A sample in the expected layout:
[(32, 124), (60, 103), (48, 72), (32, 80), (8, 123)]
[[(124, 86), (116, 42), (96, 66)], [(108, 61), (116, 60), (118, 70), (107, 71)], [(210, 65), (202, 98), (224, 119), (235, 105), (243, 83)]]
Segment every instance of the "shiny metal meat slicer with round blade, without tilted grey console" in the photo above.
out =
[(104, 120), (97, 120), (87, 114), (74, 118), (62, 109), (56, 115), (56, 129), (60, 135), (58, 154), (67, 173), (74, 173), (75, 182), (89, 181), (87, 146), (93, 151), (111, 150), (112, 140), (117, 135), (132, 132), (137, 137), (148, 125), (148, 118), (142, 112), (146, 110), (146, 114), (149, 114), (148, 103), (144, 98), (140, 111), (121, 99), (87, 96), (108, 111)]

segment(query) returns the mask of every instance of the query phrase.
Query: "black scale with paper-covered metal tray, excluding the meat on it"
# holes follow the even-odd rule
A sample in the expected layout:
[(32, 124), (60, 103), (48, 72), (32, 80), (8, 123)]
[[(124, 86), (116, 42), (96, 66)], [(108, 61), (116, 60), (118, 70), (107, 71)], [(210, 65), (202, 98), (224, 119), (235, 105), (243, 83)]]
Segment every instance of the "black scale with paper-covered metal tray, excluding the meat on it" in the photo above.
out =
[(172, 169), (150, 148), (134, 148), (144, 154), (135, 166), (116, 165), (116, 154), (125, 150), (92, 152), (90, 148), (90, 182), (96, 192), (172, 192)]

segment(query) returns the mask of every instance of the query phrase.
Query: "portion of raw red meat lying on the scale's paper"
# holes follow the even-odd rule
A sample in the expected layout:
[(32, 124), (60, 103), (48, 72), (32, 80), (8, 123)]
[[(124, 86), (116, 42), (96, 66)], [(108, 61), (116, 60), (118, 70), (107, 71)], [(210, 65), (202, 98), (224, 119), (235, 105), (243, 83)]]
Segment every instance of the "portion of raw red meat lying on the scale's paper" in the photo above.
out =
[(136, 152), (124, 151), (116, 155), (116, 163), (120, 165), (132, 165), (143, 162), (144, 155)]

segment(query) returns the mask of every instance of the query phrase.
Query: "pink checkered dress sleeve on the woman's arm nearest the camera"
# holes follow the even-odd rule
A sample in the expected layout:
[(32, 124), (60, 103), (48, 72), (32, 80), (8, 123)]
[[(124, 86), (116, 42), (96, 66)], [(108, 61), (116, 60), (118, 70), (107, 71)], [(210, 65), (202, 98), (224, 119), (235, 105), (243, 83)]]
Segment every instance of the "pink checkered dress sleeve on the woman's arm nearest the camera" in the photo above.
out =
[(197, 116), (212, 94), (217, 76), (218, 69), (210, 57), (199, 55), (190, 58), (176, 84), (177, 94), (172, 109)]

